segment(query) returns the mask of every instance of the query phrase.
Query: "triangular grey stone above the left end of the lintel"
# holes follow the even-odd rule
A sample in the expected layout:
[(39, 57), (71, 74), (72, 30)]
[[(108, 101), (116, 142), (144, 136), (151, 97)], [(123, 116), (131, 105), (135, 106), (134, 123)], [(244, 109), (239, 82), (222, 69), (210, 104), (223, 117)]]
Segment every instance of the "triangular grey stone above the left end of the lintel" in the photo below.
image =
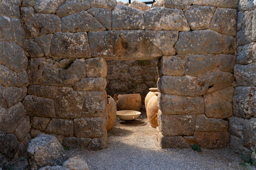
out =
[(112, 11), (109, 8), (95, 8), (92, 7), (88, 11), (102, 26), (105, 26), (107, 30), (111, 30), (112, 26)]

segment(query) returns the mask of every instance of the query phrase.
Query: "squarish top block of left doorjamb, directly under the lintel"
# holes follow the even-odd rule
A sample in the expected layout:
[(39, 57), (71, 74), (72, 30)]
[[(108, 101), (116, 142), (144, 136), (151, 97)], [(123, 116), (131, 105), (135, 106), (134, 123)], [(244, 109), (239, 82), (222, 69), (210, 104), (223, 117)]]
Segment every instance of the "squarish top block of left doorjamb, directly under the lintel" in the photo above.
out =
[(85, 60), (87, 77), (107, 77), (107, 62), (102, 57)]

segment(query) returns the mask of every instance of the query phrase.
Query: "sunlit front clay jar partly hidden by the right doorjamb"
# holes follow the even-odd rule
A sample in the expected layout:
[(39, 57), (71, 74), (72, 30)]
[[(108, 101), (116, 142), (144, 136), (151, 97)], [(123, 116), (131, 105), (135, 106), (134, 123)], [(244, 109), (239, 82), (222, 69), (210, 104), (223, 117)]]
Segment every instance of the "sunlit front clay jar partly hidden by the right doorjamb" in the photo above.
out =
[(149, 121), (149, 124), (152, 128), (156, 128), (158, 126), (157, 123), (157, 113), (158, 113), (158, 106), (157, 106), (157, 94), (150, 98), (149, 102), (146, 106), (146, 115)]

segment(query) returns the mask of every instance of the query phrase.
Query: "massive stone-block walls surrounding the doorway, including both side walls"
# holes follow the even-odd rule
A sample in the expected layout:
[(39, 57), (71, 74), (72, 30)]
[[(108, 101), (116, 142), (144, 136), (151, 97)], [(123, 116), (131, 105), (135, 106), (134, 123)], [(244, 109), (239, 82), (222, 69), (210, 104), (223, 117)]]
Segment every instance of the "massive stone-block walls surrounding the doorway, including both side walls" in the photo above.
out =
[[(250, 151), (255, 8), (252, 0), (166, 0), (145, 11), (115, 0), (0, 1), (0, 159), (23, 154), (40, 133), (68, 147), (104, 149), (112, 60), (158, 65), (159, 79), (154, 73), (149, 81), (161, 93), (162, 148)], [(136, 69), (127, 65), (123, 79)]]

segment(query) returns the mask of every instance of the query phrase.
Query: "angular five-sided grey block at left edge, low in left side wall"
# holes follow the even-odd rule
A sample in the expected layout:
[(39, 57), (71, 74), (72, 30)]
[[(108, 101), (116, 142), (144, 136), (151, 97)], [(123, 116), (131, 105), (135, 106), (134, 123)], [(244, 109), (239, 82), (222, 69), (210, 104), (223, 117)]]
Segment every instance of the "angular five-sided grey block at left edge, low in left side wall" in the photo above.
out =
[(8, 110), (0, 108), (0, 131), (14, 132), (25, 117), (26, 111), (22, 103), (18, 103)]

